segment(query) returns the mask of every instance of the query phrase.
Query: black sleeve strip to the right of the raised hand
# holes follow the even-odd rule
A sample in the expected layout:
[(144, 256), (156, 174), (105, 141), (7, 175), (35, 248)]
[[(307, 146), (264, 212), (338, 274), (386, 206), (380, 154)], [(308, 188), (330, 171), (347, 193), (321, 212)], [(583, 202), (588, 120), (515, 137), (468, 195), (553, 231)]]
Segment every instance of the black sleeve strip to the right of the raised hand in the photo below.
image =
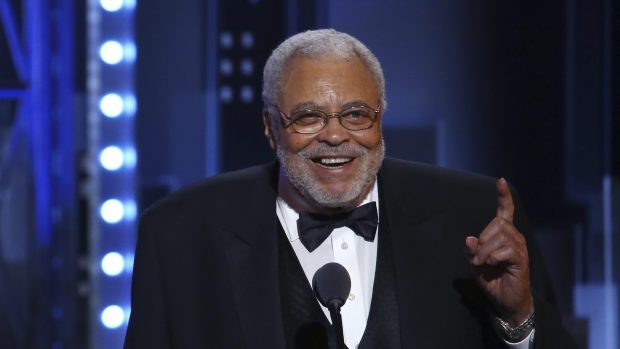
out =
[(515, 199), (515, 225), (525, 236), (530, 259), (530, 279), (536, 312), (534, 349), (576, 349), (572, 336), (562, 325), (562, 316), (557, 308), (551, 278), (538, 243), (529, 227), (516, 191), (512, 187), (511, 191)]

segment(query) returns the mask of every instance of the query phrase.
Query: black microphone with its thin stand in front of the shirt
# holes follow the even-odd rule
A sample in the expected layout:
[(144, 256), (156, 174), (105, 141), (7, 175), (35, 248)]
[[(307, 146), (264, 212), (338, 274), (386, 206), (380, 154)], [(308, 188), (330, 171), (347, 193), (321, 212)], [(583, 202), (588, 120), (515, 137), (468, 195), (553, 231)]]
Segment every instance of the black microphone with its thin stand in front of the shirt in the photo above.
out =
[(340, 308), (351, 292), (351, 277), (347, 269), (338, 263), (327, 263), (312, 277), (314, 295), (324, 307), (329, 309), (332, 326), (336, 331), (339, 349), (345, 349)]

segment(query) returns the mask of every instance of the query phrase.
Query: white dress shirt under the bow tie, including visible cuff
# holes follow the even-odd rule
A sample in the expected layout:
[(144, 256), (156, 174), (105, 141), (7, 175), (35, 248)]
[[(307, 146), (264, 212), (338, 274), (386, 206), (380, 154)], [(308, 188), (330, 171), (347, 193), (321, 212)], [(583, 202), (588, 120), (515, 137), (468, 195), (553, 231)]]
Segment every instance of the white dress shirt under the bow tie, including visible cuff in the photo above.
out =
[[(373, 201), (377, 203), (377, 211), (379, 211), (379, 191), (376, 182), (372, 191), (368, 193), (360, 206)], [(278, 197), (276, 200), (276, 214), (295, 251), (297, 259), (299, 259), (309, 286), (312, 285), (314, 273), (327, 263), (340, 263), (349, 272), (351, 277), (351, 293), (341, 309), (342, 327), (344, 342), (347, 347), (350, 349), (357, 348), (366, 329), (366, 322), (370, 312), (370, 301), (372, 299), (375, 267), (377, 264), (379, 232), (377, 231), (374, 241), (369, 242), (347, 227), (337, 228), (332, 231), (329, 238), (325, 239), (319, 247), (309, 252), (299, 240), (297, 231), (299, 213), (292, 209), (281, 197)], [(379, 212), (377, 212), (378, 215)], [(381, 217), (379, 217), (379, 220), (381, 220)], [(318, 300), (317, 303), (331, 322), (329, 310), (321, 305)], [(533, 347), (533, 344), (530, 345), (533, 343), (533, 338), (534, 331), (520, 343), (506, 342), (506, 344), (511, 349), (529, 349)]]

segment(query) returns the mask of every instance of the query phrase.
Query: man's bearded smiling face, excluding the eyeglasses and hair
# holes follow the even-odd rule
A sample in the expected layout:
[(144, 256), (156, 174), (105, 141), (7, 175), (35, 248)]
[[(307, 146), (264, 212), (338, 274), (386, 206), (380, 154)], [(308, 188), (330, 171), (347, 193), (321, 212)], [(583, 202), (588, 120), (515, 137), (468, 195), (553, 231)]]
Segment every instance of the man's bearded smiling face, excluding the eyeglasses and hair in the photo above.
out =
[[(371, 74), (359, 59), (300, 56), (284, 70), (278, 108), (289, 116), (304, 109), (330, 114), (359, 104), (378, 109), (379, 100)], [(271, 117), (281, 125), (279, 114)], [(380, 120), (360, 131), (345, 129), (337, 118), (314, 134), (294, 133), (292, 127), (272, 131), (278, 133), (272, 138), (285, 179), (310, 206), (353, 208), (372, 188), (384, 155)]]

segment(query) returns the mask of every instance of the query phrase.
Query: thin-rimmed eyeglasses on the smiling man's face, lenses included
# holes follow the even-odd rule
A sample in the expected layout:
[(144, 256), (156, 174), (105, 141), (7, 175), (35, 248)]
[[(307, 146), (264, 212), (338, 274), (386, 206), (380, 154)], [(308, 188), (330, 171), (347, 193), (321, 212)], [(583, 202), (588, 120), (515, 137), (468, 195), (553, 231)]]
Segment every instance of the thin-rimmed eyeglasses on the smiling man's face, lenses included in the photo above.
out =
[(328, 114), (318, 109), (304, 109), (295, 111), (291, 116), (288, 116), (278, 106), (275, 106), (275, 108), (282, 118), (288, 121), (288, 124), (283, 124), (284, 128), (291, 127), (296, 133), (303, 134), (320, 132), (331, 118), (338, 118), (340, 125), (349, 131), (367, 130), (374, 125), (381, 112), (381, 105), (377, 109), (367, 105), (358, 105), (339, 113)]

